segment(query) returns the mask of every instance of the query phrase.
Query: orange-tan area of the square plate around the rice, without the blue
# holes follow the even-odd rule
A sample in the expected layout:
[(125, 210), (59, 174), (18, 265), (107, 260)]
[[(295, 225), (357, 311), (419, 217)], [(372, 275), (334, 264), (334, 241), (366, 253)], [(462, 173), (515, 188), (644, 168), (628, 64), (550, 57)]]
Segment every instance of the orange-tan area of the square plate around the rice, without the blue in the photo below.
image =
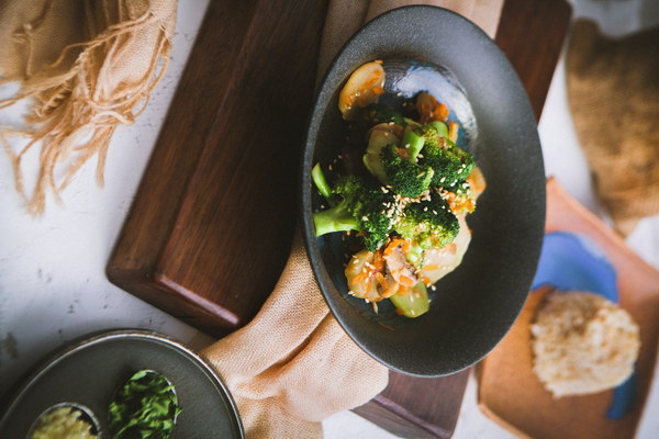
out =
[[(590, 239), (616, 272), (619, 305), (640, 328), (635, 401), (619, 419), (606, 416), (613, 391), (554, 398), (533, 372), (529, 326), (551, 288), (533, 292), (503, 341), (479, 364), (478, 402), (485, 415), (520, 437), (538, 439), (633, 438), (649, 394), (659, 349), (659, 271), (579, 204), (557, 180), (547, 182), (547, 233)], [(501, 392), (505, 389), (505, 392)]]

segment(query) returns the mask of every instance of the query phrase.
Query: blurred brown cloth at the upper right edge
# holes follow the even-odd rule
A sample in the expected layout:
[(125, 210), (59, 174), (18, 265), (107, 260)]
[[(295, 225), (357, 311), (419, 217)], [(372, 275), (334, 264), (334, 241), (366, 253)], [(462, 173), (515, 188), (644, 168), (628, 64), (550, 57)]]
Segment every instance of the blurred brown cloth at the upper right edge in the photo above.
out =
[(597, 195), (627, 235), (659, 213), (659, 27), (614, 40), (579, 21), (566, 70)]

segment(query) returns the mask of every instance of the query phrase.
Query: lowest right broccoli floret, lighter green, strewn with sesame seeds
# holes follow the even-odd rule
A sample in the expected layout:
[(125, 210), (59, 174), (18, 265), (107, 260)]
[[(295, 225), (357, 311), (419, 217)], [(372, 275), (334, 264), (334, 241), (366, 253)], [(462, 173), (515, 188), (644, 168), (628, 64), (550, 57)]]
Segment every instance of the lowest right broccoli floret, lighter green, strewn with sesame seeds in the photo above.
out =
[(409, 204), (394, 229), (424, 249), (442, 248), (456, 238), (460, 224), (448, 203), (438, 193), (432, 193), (429, 200)]

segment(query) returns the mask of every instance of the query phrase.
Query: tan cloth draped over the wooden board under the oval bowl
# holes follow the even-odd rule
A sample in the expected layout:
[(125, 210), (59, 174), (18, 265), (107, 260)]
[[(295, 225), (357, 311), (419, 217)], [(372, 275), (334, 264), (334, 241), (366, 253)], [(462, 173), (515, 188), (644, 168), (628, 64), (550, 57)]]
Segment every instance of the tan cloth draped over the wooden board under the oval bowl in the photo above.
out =
[[(503, 0), (488, 2), (481, 25), (494, 32)], [(387, 9), (383, 9), (386, 3)], [(412, 1), (330, 2), (319, 74), (364, 24), (364, 20)], [(426, 1), (479, 10), (473, 1)], [(471, 9), (468, 4), (473, 4)], [(388, 369), (367, 356), (330, 313), (311, 266), (300, 232), (275, 290), (258, 315), (244, 328), (202, 351), (231, 390), (247, 438), (317, 438), (321, 420), (357, 407), (380, 393)]]

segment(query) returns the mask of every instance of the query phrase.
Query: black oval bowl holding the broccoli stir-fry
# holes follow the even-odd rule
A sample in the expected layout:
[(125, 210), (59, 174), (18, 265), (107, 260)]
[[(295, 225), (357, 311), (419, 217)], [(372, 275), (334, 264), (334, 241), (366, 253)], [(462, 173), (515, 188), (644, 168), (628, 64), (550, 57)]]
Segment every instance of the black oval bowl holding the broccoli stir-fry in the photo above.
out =
[[(469, 103), (460, 120), (469, 122), (460, 146), (474, 154), (488, 182), (468, 217), (472, 239), (462, 263), (435, 284), (431, 311), (415, 319), (396, 316), (383, 302), (376, 314), (364, 301), (348, 296), (340, 234), (316, 238), (312, 219), (320, 196), (311, 169), (319, 161), (326, 167), (344, 144), (338, 92), (357, 67), (373, 59), (438, 67), (449, 85), (439, 89), (457, 90), (456, 97)], [(388, 92), (390, 87), (386, 85)], [(421, 91), (426, 85), (418, 87)], [(447, 99), (451, 114), (460, 113), (459, 99)], [(313, 109), (301, 195), (306, 250), (327, 305), (355, 342), (387, 367), (420, 376), (455, 373), (493, 349), (517, 317), (545, 227), (540, 143), (513, 67), (487, 34), (460, 15), (434, 7), (396, 9), (369, 22), (344, 46)]]

